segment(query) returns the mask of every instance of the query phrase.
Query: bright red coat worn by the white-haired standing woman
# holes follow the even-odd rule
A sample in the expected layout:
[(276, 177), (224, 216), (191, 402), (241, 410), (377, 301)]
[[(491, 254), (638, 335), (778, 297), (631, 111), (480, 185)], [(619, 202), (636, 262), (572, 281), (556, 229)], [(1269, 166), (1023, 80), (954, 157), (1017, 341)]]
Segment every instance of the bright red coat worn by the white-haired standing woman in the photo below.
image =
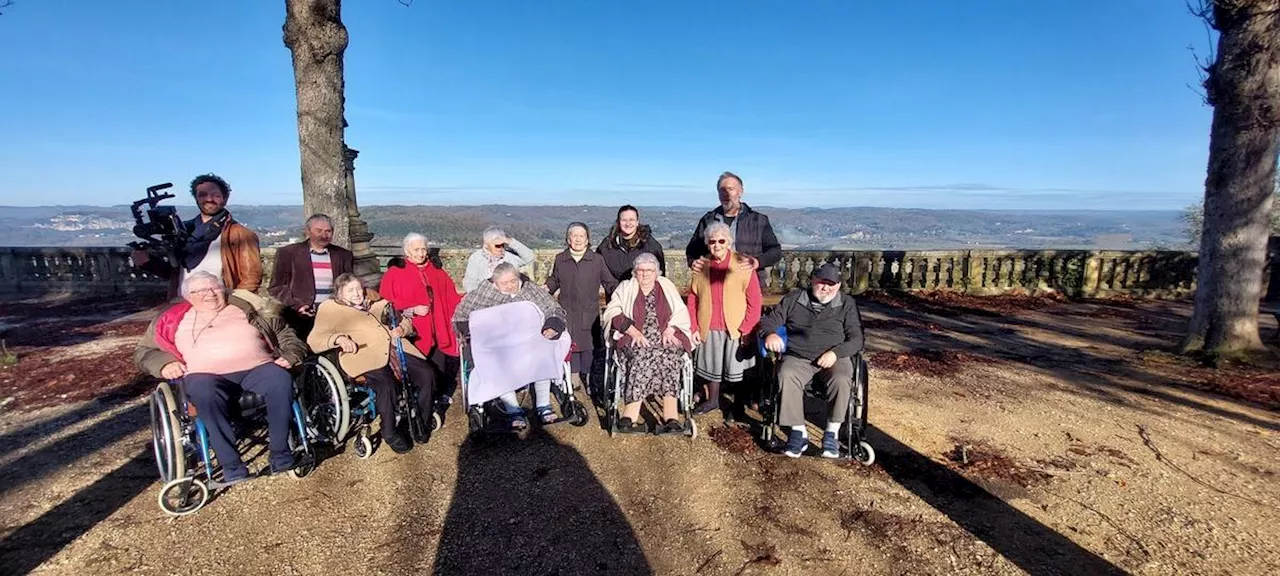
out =
[(430, 261), (416, 266), (404, 259), (393, 259), (383, 273), (378, 292), (390, 301), (396, 310), (430, 306), (431, 311), (428, 315), (413, 316), (416, 332), (413, 343), (424, 353), (430, 353), (431, 347), (438, 347), (445, 355), (458, 356), (458, 340), (449, 319), (453, 317), (453, 311), (462, 298), (458, 296), (458, 285), (447, 271), (435, 268)]

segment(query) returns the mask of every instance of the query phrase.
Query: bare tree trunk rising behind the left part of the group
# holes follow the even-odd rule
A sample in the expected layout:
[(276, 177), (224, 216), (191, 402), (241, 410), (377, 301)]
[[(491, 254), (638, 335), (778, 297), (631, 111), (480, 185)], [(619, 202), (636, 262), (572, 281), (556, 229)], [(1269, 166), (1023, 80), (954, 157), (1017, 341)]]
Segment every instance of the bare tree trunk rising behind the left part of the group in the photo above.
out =
[(342, 24), (342, 0), (285, 0), (284, 8), (284, 45), (293, 52), (298, 93), (302, 210), (307, 216), (328, 214), (333, 242), (349, 247), (342, 70), (347, 27)]

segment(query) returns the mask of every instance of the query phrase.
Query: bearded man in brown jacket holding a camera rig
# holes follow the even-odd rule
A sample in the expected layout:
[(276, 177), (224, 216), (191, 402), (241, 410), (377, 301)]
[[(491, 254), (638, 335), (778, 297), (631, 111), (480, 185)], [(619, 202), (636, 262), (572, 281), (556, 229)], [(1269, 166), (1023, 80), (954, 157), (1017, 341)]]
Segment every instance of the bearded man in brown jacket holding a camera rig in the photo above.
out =
[[(133, 264), (169, 279), (169, 292), (177, 294), (183, 279), (204, 270), (221, 278), (227, 289), (257, 292), (262, 283), (262, 256), (257, 234), (232, 219), (227, 200), (232, 187), (216, 174), (204, 174), (191, 180), (200, 216), (186, 221), (187, 242), (179, 246), (178, 268), (168, 261), (151, 260), (146, 251), (133, 251)], [(175, 274), (177, 273), (177, 274)]]

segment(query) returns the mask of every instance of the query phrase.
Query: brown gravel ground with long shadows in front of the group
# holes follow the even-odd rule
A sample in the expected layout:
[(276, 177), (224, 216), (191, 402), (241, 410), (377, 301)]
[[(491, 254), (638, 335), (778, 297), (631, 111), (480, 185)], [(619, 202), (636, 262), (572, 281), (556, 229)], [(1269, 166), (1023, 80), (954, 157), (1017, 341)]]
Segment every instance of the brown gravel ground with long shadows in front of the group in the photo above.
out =
[(593, 421), (476, 444), (454, 411), (408, 454), (170, 518), (141, 399), (10, 408), (0, 573), (1280, 572), (1280, 415), (1148, 360), (1185, 305), (931, 312), (864, 311), (870, 467), (713, 439), (716, 416), (695, 440)]

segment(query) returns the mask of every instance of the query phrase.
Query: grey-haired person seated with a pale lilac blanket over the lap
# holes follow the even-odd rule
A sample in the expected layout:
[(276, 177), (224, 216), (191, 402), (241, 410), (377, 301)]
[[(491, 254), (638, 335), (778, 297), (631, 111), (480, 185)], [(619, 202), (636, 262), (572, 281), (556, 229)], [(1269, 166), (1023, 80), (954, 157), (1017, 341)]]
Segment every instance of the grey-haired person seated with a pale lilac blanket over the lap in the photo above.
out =
[[(536, 308), (536, 310), (535, 310)], [(509, 316), (508, 316), (509, 315)], [(479, 325), (477, 319), (480, 319)], [(516, 398), (516, 390), (509, 385), (525, 372), (539, 374), (534, 379), (534, 410), (541, 424), (557, 424), (571, 421), (575, 425), (586, 422), (586, 410), (573, 397), (572, 384), (568, 383), (568, 369), (566, 357), (568, 343), (564, 330), (567, 329), (564, 308), (547, 291), (522, 278), (520, 271), (509, 262), (498, 264), (493, 270), (493, 276), (483, 280), (480, 285), (468, 292), (458, 308), (453, 314), (454, 329), (460, 334), (462, 347), (462, 392), (466, 398), (471, 429), (474, 433), (485, 428), (483, 403), (493, 396), (486, 396), (490, 390), (495, 393), (499, 411), (506, 416), (512, 431), (521, 431), (529, 428), (524, 410)], [(534, 325), (540, 324), (540, 326)], [(516, 334), (516, 332), (520, 332)], [(527, 334), (525, 333), (527, 332)], [(535, 335), (534, 333), (540, 334)], [(563, 337), (563, 338), (562, 338)], [(563, 343), (564, 351), (557, 358), (548, 361), (539, 355), (549, 355), (556, 346), (536, 344), (539, 340)], [(484, 346), (481, 339), (484, 339)], [(499, 344), (503, 340), (524, 342), (524, 347), (509, 347)], [(545, 344), (545, 342), (543, 342)], [(489, 346), (494, 344), (494, 346)], [(485, 358), (480, 352), (485, 353)], [(524, 355), (521, 357), (497, 357), (502, 355)], [(535, 357), (538, 356), (538, 357)], [(477, 366), (484, 361), (495, 365)], [(506, 364), (506, 366), (498, 366)], [(549, 366), (549, 369), (548, 369)], [(480, 389), (472, 380), (477, 374), (489, 374), (497, 378), (481, 378)], [(483, 372), (483, 374), (481, 374)], [(529, 380), (524, 380), (527, 383)], [(557, 399), (561, 403), (563, 416), (557, 416), (552, 407), (552, 384), (559, 383), (556, 389)], [(516, 388), (524, 388), (518, 384)]]

